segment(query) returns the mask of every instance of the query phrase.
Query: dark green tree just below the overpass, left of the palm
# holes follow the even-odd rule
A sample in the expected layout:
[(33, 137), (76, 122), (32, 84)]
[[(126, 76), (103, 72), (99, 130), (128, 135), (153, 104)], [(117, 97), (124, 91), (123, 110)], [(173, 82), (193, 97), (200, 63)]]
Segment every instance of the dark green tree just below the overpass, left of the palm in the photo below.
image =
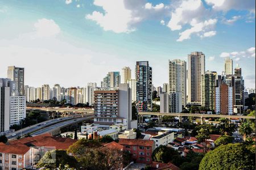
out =
[(218, 124), (221, 135), (230, 135), (236, 131), (236, 125), (229, 122), (228, 118), (222, 118)]

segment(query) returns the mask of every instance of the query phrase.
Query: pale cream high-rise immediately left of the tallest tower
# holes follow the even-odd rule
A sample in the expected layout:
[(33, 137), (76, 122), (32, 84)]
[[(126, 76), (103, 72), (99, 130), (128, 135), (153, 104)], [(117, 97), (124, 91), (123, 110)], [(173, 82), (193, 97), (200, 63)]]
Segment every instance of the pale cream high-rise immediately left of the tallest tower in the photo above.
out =
[(182, 105), (184, 107), (187, 105), (186, 64), (187, 63), (184, 60), (180, 59), (169, 60), (169, 94), (171, 96), (172, 93), (181, 93), (182, 103), (179, 104), (181, 107)]

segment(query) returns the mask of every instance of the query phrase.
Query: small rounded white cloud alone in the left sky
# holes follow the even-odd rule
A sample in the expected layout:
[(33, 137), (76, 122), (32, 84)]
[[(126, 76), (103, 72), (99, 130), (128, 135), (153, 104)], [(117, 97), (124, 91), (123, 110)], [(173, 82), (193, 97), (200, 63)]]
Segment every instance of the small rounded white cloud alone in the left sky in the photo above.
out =
[(39, 19), (34, 27), (36, 29), (36, 36), (51, 37), (60, 33), (60, 27), (52, 19)]

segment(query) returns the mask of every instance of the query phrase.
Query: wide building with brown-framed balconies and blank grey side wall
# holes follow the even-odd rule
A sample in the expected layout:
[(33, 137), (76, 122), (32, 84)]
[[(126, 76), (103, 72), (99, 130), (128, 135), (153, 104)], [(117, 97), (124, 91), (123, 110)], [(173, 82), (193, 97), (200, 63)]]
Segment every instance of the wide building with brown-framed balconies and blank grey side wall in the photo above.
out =
[(118, 90), (94, 91), (94, 123), (122, 123), (131, 128), (131, 89), (119, 84)]

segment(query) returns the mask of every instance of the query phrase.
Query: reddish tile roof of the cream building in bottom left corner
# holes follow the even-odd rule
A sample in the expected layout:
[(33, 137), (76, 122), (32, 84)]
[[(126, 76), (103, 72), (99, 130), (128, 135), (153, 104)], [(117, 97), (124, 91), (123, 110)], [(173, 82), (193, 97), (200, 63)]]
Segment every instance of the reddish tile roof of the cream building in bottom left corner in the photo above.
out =
[(30, 147), (17, 143), (18, 145), (0, 145), (0, 152), (5, 154), (20, 154), (24, 155), (30, 150)]

